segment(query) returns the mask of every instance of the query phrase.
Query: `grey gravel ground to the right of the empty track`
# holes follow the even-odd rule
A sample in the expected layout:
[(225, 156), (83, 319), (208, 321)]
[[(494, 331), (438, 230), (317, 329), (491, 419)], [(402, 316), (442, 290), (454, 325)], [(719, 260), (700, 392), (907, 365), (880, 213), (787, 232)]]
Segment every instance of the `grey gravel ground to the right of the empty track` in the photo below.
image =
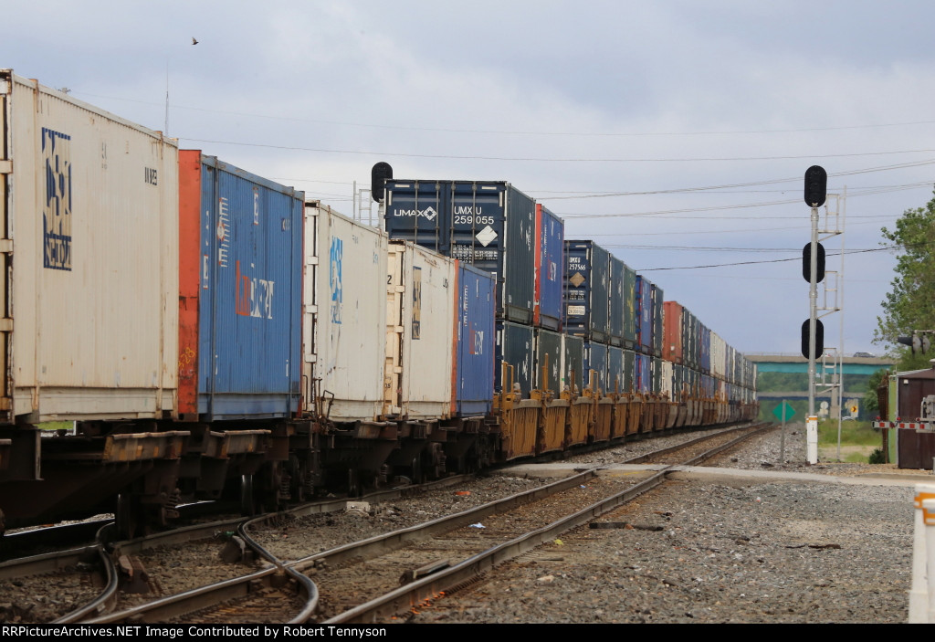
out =
[(407, 620), (906, 621), (913, 484), (931, 473), (810, 466), (800, 427), (780, 463), (779, 441), (775, 431), (713, 464), (770, 478), (680, 474), (598, 518), (610, 528), (575, 529)]

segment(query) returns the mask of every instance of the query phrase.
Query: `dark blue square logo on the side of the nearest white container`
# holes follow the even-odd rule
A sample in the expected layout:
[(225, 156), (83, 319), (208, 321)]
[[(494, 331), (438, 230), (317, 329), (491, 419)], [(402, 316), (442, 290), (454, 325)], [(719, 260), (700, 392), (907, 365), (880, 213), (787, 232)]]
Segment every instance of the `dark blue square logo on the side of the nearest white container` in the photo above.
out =
[(42, 264), (71, 271), (71, 136), (42, 128), (46, 198), (42, 207)]

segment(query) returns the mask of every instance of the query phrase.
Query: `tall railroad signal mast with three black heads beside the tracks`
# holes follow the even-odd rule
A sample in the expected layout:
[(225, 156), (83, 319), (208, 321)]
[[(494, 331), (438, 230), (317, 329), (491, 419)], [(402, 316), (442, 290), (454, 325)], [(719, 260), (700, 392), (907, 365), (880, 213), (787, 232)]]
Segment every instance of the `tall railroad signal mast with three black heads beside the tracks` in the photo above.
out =
[[(827, 172), (819, 165), (809, 167), (805, 172), (805, 205), (812, 208), (812, 239), (802, 248), (802, 277), (809, 281), (809, 319), (802, 323), (801, 328), (801, 349), (802, 356), (809, 360), (809, 415), (806, 419), (806, 442), (807, 458), (809, 464), (818, 463), (818, 416), (815, 412), (815, 388), (819, 384), (817, 376), (817, 362), (821, 359), (821, 385), (831, 389), (832, 400), (836, 401), (838, 407), (838, 430), (839, 430), (839, 458), (840, 458), (840, 433), (841, 433), (841, 402), (843, 392), (842, 373), (842, 355), (843, 345), (840, 350), (829, 348), (828, 351), (837, 354), (828, 355), (825, 348), (825, 325), (819, 318), (819, 311), (823, 312), (821, 317), (838, 312), (843, 303), (843, 226), (842, 226), (842, 204), (844, 196), (830, 194), (834, 199), (835, 207), (833, 209), (826, 205), (829, 194), (827, 193)], [(821, 216), (819, 207), (825, 206), (825, 221), (819, 227)], [(826, 271), (825, 269), (825, 248), (821, 244), (832, 236), (841, 235), (841, 269), (835, 271)], [(826, 279), (827, 277), (827, 279)], [(818, 283), (824, 283), (824, 296), (819, 305), (818, 302)], [(843, 315), (841, 315), (841, 342), (843, 342)], [(827, 364), (828, 356), (832, 358), (832, 364)], [(830, 369), (832, 375), (830, 381), (826, 380), (827, 371)]]

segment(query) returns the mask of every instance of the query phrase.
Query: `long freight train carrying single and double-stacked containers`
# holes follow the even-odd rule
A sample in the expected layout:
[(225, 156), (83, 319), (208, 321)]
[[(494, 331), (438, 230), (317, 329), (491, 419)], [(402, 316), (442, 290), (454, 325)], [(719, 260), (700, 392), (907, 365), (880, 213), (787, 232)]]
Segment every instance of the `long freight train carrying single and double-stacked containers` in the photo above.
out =
[(753, 364), (509, 183), (384, 177), (369, 226), (10, 70), (0, 132), (6, 527), (756, 415)]

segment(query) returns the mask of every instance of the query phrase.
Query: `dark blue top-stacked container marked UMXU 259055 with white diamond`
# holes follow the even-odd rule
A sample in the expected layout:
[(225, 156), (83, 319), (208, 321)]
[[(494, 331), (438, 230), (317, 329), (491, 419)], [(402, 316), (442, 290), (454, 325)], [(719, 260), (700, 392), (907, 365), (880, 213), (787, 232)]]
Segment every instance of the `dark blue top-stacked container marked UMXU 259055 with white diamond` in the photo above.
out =
[(498, 319), (532, 323), (536, 202), (503, 181), (386, 181), (386, 232), (496, 277)]

